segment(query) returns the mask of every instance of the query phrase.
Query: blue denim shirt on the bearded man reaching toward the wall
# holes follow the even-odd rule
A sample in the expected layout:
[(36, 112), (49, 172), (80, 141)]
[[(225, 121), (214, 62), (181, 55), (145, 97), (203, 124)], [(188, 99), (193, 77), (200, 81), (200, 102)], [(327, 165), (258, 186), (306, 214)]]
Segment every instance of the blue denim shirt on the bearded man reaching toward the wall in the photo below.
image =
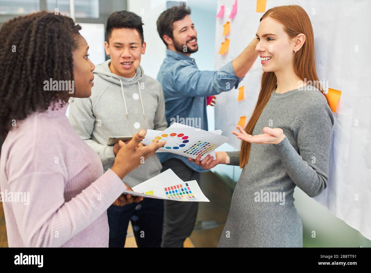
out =
[[(193, 58), (167, 49), (157, 80), (164, 91), (168, 126), (175, 121), (207, 131), (206, 97), (237, 88), (242, 79), (234, 73), (232, 62), (218, 71), (200, 71)], [(161, 163), (175, 157), (197, 172), (207, 172), (188, 157), (173, 153), (158, 156)]]

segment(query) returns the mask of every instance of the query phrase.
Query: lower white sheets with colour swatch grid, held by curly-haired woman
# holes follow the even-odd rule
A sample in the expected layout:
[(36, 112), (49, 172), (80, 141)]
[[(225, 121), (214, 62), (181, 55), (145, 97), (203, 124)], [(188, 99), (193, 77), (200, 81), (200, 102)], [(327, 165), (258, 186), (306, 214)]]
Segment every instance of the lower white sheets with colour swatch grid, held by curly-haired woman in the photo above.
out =
[(132, 189), (134, 192), (124, 191), (123, 193), (173, 201), (210, 202), (196, 180), (184, 182), (171, 169), (165, 170)]

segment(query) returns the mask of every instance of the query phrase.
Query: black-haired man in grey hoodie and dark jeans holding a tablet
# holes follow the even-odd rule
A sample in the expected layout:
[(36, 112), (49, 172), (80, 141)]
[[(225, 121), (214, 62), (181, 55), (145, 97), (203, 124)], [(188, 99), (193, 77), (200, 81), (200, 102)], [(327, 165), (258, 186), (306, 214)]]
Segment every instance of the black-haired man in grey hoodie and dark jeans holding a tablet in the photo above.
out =
[[(74, 98), (69, 121), (76, 133), (101, 157), (104, 171), (111, 168), (118, 144), (108, 146), (110, 136), (132, 136), (139, 129), (164, 130), (164, 94), (160, 83), (145, 75), (139, 65), (145, 53), (143, 23), (137, 14), (112, 13), (107, 21), (105, 51), (111, 59), (96, 65), (89, 98)], [(123, 181), (133, 187), (158, 175), (157, 155), (129, 173)], [(164, 203), (144, 198), (139, 203), (108, 208), (109, 247), (124, 247), (131, 221), (138, 247), (160, 247)]]

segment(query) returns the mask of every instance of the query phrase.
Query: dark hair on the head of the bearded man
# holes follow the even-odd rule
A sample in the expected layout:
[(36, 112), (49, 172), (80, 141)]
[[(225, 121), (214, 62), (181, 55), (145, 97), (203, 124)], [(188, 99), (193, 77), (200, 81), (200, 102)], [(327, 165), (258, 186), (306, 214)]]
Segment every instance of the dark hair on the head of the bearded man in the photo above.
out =
[(181, 3), (179, 6), (171, 7), (160, 14), (157, 19), (157, 32), (162, 42), (167, 46), (164, 35), (173, 39), (173, 23), (182, 20), (185, 16), (191, 14), (191, 9)]

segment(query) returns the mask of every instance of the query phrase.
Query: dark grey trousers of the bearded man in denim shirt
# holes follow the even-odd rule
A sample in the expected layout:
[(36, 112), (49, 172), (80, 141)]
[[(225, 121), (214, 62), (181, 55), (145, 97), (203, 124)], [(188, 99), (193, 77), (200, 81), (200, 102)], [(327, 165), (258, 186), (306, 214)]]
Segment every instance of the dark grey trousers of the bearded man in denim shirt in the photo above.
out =
[[(189, 168), (176, 158), (162, 163), (162, 170), (172, 169), (183, 181), (196, 180), (200, 185), (201, 173)], [(198, 202), (164, 200), (164, 224), (162, 227), (161, 247), (183, 247), (196, 223)]]

